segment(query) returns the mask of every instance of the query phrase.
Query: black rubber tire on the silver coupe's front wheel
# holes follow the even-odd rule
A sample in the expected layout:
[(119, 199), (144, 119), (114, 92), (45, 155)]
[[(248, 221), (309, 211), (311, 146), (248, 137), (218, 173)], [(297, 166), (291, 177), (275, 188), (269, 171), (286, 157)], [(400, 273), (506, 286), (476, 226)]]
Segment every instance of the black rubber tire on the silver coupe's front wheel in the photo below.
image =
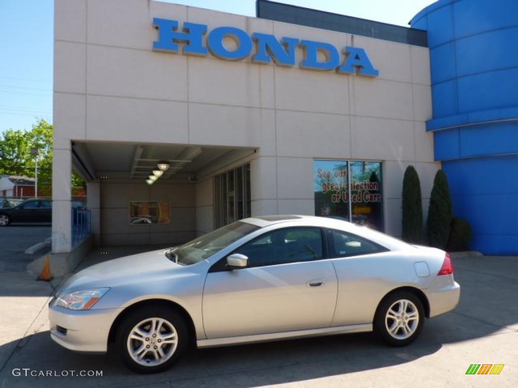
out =
[[(146, 321), (151, 318), (160, 318), (164, 319), (168, 324), (170, 324), (174, 330), (176, 331), (176, 349), (172, 351), (172, 355), (169, 356), (169, 358), (166, 361), (163, 361), (162, 363), (156, 362), (156, 359), (154, 358), (154, 351), (153, 348), (155, 346), (160, 346), (160, 349), (165, 349), (164, 351), (167, 354), (168, 347), (174, 347), (173, 345), (165, 345), (158, 344), (159, 338), (153, 338), (150, 334), (149, 337), (146, 336), (146, 338), (149, 338), (148, 342), (146, 341), (146, 338), (143, 338), (143, 340), (131, 340), (130, 343), (128, 343), (128, 337), (132, 333), (135, 326), (142, 321)], [(150, 327), (151, 323), (149, 324)], [(141, 326), (141, 327), (148, 327), (148, 326)], [(167, 324), (164, 324), (163, 326), (164, 330), (168, 328)], [(171, 332), (171, 331), (166, 331)], [(116, 339), (116, 346), (117, 351), (119, 353), (119, 357), (121, 361), (126, 365), (129, 369), (139, 373), (139, 374), (151, 374), (151, 373), (157, 373), (162, 372), (166, 369), (169, 369), (172, 365), (174, 365), (182, 353), (185, 351), (185, 349), (188, 346), (189, 342), (189, 333), (188, 333), (188, 327), (185, 323), (185, 320), (183, 319), (182, 315), (179, 314), (174, 309), (171, 309), (170, 307), (164, 306), (164, 305), (155, 305), (155, 306), (145, 306), (139, 309), (136, 309), (130, 314), (128, 314), (126, 317), (123, 318), (123, 321), (121, 322), (121, 325), (119, 326), (119, 330), (117, 331), (117, 339)], [(141, 363), (138, 363), (136, 360), (133, 359), (133, 356), (130, 354), (129, 347), (132, 347), (134, 349), (139, 349), (140, 346), (146, 346), (149, 348), (149, 350), (143, 350), (142, 354), (143, 359)], [(146, 345), (149, 344), (149, 345)], [(162, 348), (162, 346), (165, 346)], [(146, 361), (149, 360), (149, 361)], [(154, 360), (154, 361), (153, 361)], [(143, 365), (146, 364), (146, 365)]]

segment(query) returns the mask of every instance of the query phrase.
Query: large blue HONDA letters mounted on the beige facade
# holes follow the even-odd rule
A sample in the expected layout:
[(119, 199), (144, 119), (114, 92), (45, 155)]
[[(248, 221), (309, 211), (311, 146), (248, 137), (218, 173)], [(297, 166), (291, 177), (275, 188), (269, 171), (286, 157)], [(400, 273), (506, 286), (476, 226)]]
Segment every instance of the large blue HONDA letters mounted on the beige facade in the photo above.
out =
[[(278, 40), (274, 35), (247, 32), (236, 27), (214, 28), (207, 37), (207, 47), (203, 37), (207, 34), (207, 25), (183, 23), (179, 30), (178, 21), (168, 19), (153, 19), (154, 26), (159, 30), (159, 40), (153, 42), (154, 51), (178, 53), (178, 43), (183, 43), (183, 54), (205, 56), (209, 53), (226, 61), (239, 61), (252, 54), (252, 62), (268, 64), (274, 61), (280, 66), (295, 66), (295, 50), (303, 50), (304, 59), (300, 62), (301, 69), (336, 70), (338, 73), (360, 76), (377, 77), (379, 71), (372, 66), (364, 49), (346, 46), (341, 50), (343, 59), (335, 46), (325, 42), (300, 40), (283, 37)], [(236, 49), (228, 50), (223, 41), (226, 37), (234, 39)], [(254, 51), (252, 53), (252, 51)], [(325, 60), (319, 60), (318, 54), (323, 53)]]

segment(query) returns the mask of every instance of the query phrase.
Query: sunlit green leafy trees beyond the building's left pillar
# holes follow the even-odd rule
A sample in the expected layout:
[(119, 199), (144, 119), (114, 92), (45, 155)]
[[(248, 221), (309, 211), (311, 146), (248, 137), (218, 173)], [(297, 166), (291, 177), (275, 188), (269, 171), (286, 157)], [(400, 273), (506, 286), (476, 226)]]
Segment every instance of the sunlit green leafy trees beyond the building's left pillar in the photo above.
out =
[[(35, 176), (33, 147), (39, 148), (38, 188), (50, 191), (52, 186), (52, 124), (39, 119), (31, 130), (7, 129), (0, 136), (0, 174)], [(82, 178), (73, 172), (73, 186), (83, 186)], [(38, 189), (38, 191), (40, 191)]]

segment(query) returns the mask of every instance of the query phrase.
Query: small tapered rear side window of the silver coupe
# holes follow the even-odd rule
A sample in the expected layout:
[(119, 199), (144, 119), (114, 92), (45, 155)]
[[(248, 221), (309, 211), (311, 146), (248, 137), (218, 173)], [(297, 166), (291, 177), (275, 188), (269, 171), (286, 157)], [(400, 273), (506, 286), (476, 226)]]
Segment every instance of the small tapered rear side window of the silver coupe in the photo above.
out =
[(327, 244), (330, 258), (370, 255), (387, 250), (366, 238), (334, 229), (327, 230)]

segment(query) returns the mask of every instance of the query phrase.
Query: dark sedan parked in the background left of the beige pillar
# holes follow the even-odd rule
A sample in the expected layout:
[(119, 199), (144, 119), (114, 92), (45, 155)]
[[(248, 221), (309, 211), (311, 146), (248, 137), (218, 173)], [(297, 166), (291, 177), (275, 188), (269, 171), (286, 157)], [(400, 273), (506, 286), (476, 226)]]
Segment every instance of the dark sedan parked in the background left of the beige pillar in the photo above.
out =
[(0, 208), (0, 227), (12, 222), (51, 222), (52, 201), (49, 199), (29, 199), (7, 208)]

